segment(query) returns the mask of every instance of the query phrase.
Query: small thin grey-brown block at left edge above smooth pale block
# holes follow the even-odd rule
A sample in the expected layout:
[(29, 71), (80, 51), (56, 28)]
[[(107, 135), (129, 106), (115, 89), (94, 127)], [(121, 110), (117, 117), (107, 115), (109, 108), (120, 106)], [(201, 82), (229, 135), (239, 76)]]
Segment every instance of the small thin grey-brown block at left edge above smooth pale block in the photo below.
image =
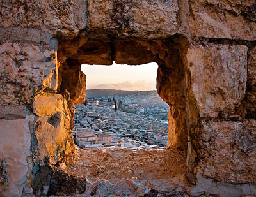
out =
[(0, 119), (25, 119), (26, 106), (0, 106)]

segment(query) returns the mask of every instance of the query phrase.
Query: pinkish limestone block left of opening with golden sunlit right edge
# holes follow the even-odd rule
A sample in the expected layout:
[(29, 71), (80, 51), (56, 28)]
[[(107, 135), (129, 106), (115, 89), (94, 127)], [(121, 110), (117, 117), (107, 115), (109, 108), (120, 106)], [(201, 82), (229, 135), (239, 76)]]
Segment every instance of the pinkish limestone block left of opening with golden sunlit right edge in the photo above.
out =
[(37, 46), (16, 43), (0, 45), (0, 103), (29, 104), (35, 91), (57, 89), (56, 54)]

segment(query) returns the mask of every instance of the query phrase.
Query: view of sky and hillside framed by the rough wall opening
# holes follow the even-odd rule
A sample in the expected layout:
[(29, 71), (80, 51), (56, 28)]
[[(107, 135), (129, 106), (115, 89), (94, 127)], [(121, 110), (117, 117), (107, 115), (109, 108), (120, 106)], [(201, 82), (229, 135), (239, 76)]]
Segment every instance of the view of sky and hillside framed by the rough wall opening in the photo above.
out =
[(168, 105), (156, 91), (157, 64), (82, 65), (86, 101), (72, 134), (80, 148), (165, 149)]

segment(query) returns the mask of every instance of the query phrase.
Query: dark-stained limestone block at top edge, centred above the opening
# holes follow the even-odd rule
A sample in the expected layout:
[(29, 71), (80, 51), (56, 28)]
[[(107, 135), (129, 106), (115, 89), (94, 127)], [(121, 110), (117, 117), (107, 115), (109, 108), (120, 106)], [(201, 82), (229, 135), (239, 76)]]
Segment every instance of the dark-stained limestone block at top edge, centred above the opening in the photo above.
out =
[(177, 0), (168, 1), (87, 1), (89, 31), (164, 38), (177, 32)]

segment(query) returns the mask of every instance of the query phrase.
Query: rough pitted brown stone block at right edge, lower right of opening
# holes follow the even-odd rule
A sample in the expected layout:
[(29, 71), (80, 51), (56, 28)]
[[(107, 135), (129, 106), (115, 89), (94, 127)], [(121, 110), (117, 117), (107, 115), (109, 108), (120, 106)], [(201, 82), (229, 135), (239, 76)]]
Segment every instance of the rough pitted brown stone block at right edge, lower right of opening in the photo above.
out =
[(256, 120), (202, 122), (198, 170), (222, 182), (256, 182)]

